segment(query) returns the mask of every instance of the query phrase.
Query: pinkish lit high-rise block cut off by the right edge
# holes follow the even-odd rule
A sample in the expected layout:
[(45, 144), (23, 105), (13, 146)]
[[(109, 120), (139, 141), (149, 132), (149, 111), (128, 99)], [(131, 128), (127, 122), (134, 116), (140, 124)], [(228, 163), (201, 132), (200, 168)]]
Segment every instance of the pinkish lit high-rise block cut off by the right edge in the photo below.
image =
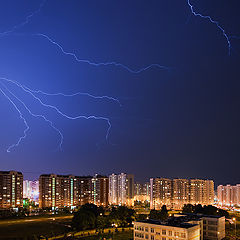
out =
[(217, 188), (218, 204), (221, 206), (240, 206), (240, 184), (219, 185)]

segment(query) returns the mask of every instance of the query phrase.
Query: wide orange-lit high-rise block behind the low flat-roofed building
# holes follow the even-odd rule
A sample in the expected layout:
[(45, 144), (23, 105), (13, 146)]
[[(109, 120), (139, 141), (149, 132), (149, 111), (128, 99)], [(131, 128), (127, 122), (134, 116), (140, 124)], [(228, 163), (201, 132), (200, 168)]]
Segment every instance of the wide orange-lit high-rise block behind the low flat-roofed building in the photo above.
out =
[(184, 204), (210, 205), (214, 203), (214, 182), (201, 179), (150, 179), (150, 207), (162, 205), (181, 209)]

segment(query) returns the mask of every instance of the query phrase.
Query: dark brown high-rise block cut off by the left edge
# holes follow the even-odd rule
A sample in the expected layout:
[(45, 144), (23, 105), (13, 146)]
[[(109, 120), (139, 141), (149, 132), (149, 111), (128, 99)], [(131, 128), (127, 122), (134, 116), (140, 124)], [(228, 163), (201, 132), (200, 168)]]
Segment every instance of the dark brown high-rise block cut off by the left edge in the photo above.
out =
[(0, 208), (23, 206), (23, 175), (16, 171), (0, 171)]

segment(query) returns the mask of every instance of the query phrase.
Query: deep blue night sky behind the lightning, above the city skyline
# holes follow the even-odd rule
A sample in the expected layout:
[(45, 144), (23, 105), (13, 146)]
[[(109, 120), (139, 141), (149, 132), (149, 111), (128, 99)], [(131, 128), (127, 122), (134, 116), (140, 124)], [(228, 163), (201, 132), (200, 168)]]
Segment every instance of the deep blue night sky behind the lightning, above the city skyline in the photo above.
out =
[[(0, 32), (10, 31), (0, 33), (0, 78), (48, 93), (107, 95), (122, 106), (106, 98), (37, 94), (71, 116), (109, 118), (106, 141), (106, 121), (66, 119), (1, 80), (64, 135), (60, 151), (58, 133), (14, 99), (30, 130), (7, 153), (25, 126), (0, 93), (2, 170), (22, 171), (29, 179), (41, 173), (127, 172), (139, 181), (159, 176), (240, 183), (240, 38), (230, 37), (240, 36), (239, 0), (191, 1), (196, 12), (225, 29), (230, 56), (221, 30), (194, 16), (187, 0), (47, 0), (37, 11), (41, 3), (0, 1)], [(77, 62), (38, 34), (79, 59), (115, 61), (136, 71), (150, 64), (166, 68), (131, 73)]]

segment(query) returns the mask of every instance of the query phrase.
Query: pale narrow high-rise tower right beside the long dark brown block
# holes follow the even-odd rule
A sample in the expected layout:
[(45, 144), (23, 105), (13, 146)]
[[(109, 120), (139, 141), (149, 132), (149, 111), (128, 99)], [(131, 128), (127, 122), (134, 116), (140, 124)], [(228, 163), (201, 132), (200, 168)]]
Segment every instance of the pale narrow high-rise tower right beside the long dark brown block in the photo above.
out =
[(134, 199), (134, 175), (111, 174), (109, 176), (109, 203), (132, 205)]

